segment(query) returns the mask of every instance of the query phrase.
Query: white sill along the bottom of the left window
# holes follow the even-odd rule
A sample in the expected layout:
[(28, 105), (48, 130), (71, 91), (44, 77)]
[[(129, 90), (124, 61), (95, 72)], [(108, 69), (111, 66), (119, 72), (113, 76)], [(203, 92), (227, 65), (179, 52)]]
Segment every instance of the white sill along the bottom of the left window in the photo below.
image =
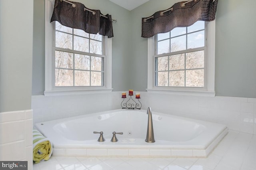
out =
[(113, 89), (88, 89), (88, 90), (56, 90), (44, 91), (44, 96), (62, 96), (62, 95), (84, 95), (94, 93), (110, 93)]

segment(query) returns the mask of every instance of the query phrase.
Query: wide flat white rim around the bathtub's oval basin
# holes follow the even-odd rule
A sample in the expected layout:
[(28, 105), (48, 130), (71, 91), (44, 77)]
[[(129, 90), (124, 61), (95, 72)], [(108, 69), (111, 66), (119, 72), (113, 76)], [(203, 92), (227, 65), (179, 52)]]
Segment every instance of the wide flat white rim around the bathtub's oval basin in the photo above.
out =
[[(52, 130), (52, 129), (50, 127), (46, 127), (48, 129), (48, 130), (46, 130), (45, 128), (41, 127), (41, 124), (44, 124), (44, 125), (45, 124), (46, 125), (50, 124), (50, 126), (52, 128), (54, 128), (55, 125), (58, 125), (58, 124), (60, 124), (62, 122), (65, 122), (65, 121), (73, 121), (73, 120), (76, 120), (76, 119), (80, 119), (80, 118), (84, 118), (84, 117), (90, 117), (90, 116), (96, 117), (96, 116), (104, 115), (104, 114), (108, 114), (108, 113), (116, 113), (116, 112), (117, 113), (119, 113), (119, 112), (122, 113), (122, 112), (126, 112), (126, 111), (128, 111), (128, 112), (130, 112), (130, 111), (132, 111), (132, 112), (139, 111), (139, 112), (143, 112), (143, 113), (146, 114), (146, 110), (142, 110), (142, 109), (140, 109), (140, 110), (115, 109), (115, 110), (110, 110), (110, 111), (103, 111), (103, 112), (98, 112), (98, 113), (90, 113), (90, 114), (86, 114), (86, 115), (79, 115), (79, 116), (74, 116), (74, 117), (68, 117), (68, 118), (63, 118), (63, 119), (57, 119), (57, 120), (52, 120), (52, 121), (36, 123), (35, 126), (36, 126), (36, 128), (38, 128), (38, 130), (40, 130), (40, 132), (42, 134), (44, 134), (45, 131)], [(166, 114), (166, 113), (159, 113), (159, 112), (155, 112), (155, 111), (152, 111), (152, 115), (160, 115), (160, 116), (166, 116), (166, 117), (170, 117), (170, 118), (179, 119), (179, 120), (182, 120), (182, 121), (189, 121), (189, 122), (200, 124), (204, 128), (205, 127), (208, 128), (207, 131), (205, 130), (204, 132), (202, 132), (202, 134), (200, 134), (199, 136), (196, 136), (196, 138), (193, 138), (191, 140), (188, 140), (188, 141), (177, 141), (177, 142), (176, 141), (170, 141), (170, 142), (173, 142), (175, 144), (176, 148), (184, 148), (184, 146), (193, 145), (194, 147), (193, 146), (189, 146), (187, 148), (206, 149), (213, 142), (213, 140), (216, 137), (218, 137), (227, 128), (226, 125), (222, 125), (222, 124), (218, 124), (218, 123), (212, 123), (212, 122), (208, 122), (208, 121), (201, 121), (201, 120), (196, 120), (196, 119), (191, 119), (191, 118), (186, 118), (186, 117), (180, 117), (180, 116)], [(54, 124), (52, 124), (52, 123), (54, 123)], [(215, 133), (214, 137), (212, 137), (212, 134), (210, 134), (209, 132), (212, 132), (212, 131), (216, 132), (216, 130), (219, 130), (218, 133)], [(50, 135), (52, 135), (52, 134), (50, 134)], [(65, 136), (60, 135), (60, 134), (57, 134), (57, 135), (58, 135), (58, 139), (56, 139), (56, 140), (58, 140), (58, 141), (57, 142), (54, 141), (54, 142), (56, 142), (55, 143), (55, 147), (58, 147), (58, 146), (69, 147), (69, 146), (72, 146), (73, 143), (76, 143), (76, 145), (77, 144), (78, 145), (87, 144), (88, 146), (92, 146), (92, 147), (93, 146), (95, 146), (95, 147), (102, 147), (102, 145), (105, 144), (104, 146), (105, 147), (109, 147), (109, 148), (118, 147), (118, 146), (115, 146), (115, 145), (119, 145), (119, 144), (120, 144), (120, 147), (125, 147), (125, 148), (129, 148), (129, 147), (160, 147), (160, 148), (166, 148), (166, 146), (162, 146), (162, 145), (164, 145), (164, 143), (161, 143), (160, 146), (156, 146), (159, 140), (156, 140), (156, 142), (154, 142), (154, 143), (147, 143), (147, 142), (144, 142), (144, 140), (142, 140), (143, 143), (140, 143), (140, 145), (138, 145), (138, 146), (134, 146), (133, 143), (131, 143), (130, 145), (126, 146), (126, 144), (124, 144), (124, 143), (122, 143), (120, 141), (114, 143), (115, 145), (113, 145), (112, 142), (109, 142), (110, 141), (109, 138), (105, 138), (106, 139), (105, 142), (97, 142), (98, 136), (95, 137), (95, 141), (96, 142), (94, 140), (86, 140), (87, 142), (83, 143), (82, 140), (81, 141), (80, 140), (71, 140), (71, 139), (66, 138)], [(146, 137), (146, 134), (145, 134), (145, 137)], [(122, 138), (122, 136), (120, 136), (120, 138)], [(68, 144), (63, 144), (64, 140), (67, 140)], [(142, 142), (142, 141), (140, 141), (140, 142)], [(190, 143), (190, 144), (188, 145), (187, 143)], [(143, 146), (141, 146), (141, 144), (143, 144)], [(148, 145), (150, 145), (150, 146), (148, 146)], [(168, 146), (170, 147), (170, 144), (168, 144)]]

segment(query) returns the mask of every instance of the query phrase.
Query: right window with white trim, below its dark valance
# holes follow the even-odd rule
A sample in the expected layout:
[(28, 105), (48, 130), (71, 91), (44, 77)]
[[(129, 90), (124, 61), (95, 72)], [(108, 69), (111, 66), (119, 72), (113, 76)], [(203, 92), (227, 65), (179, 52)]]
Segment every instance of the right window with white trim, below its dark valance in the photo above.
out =
[(214, 96), (214, 48), (215, 21), (148, 38), (147, 91)]

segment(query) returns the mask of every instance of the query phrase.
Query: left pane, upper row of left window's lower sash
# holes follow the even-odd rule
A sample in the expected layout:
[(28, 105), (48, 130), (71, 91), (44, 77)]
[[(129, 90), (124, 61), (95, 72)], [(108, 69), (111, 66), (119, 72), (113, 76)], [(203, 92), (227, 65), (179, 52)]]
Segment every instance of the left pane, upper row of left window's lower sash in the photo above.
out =
[(73, 53), (63, 51), (55, 51), (55, 67), (57, 68), (73, 68)]

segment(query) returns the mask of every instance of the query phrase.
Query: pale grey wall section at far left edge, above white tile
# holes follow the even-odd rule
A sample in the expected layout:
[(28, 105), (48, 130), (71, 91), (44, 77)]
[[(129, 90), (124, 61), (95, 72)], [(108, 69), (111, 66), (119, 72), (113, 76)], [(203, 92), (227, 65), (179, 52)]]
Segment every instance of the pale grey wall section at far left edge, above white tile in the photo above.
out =
[(33, 0), (0, 0), (0, 112), (31, 109)]

